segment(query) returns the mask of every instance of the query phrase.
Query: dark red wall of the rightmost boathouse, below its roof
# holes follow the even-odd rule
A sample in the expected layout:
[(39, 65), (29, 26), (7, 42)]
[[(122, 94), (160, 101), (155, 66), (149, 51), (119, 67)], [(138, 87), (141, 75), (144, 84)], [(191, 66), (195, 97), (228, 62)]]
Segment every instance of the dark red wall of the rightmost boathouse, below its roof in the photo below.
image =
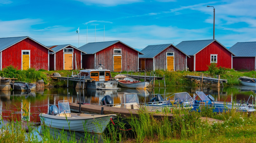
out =
[(233, 57), (235, 70), (255, 71), (255, 57)]

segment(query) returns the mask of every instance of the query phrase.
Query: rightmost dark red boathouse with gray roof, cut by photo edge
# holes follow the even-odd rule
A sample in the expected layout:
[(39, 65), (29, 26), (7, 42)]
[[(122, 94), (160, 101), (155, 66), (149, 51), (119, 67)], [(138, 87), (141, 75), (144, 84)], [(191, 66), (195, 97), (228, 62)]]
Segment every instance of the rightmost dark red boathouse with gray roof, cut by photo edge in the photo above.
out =
[(256, 42), (237, 42), (229, 48), (235, 70), (256, 71)]

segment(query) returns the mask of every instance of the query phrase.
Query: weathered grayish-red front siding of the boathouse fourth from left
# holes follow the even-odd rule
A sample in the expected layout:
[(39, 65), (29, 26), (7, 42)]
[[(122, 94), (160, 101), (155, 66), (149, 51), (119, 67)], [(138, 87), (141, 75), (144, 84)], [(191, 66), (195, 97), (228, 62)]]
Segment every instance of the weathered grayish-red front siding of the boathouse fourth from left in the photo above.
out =
[[(164, 70), (166, 71), (166, 52), (174, 52), (174, 70), (175, 71), (185, 71), (186, 70), (186, 55), (183, 54), (180, 50), (173, 47), (172, 45), (160, 54), (155, 56), (155, 70)], [(146, 64), (148, 65), (148, 63)]]

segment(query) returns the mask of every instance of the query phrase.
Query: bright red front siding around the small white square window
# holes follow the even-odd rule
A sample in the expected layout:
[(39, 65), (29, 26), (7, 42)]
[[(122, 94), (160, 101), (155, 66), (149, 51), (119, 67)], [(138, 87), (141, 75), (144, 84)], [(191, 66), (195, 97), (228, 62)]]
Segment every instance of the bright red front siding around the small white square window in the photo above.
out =
[(210, 65), (210, 55), (216, 54), (217, 65), (231, 69), (231, 53), (214, 41), (206, 46), (203, 50), (196, 54), (196, 69), (195, 71), (207, 71), (207, 65)]

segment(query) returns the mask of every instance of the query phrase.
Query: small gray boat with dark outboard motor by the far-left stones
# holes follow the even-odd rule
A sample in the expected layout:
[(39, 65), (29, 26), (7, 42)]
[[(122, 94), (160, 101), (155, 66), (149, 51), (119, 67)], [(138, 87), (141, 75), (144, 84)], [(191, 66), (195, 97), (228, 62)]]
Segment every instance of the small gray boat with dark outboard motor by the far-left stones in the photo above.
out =
[(11, 88), (14, 89), (13, 90), (20, 90), (20, 91), (26, 91), (26, 90), (34, 90), (35, 89), (35, 84), (33, 83), (27, 83), (27, 82), (23, 82), (23, 81), (15, 81), (10, 82)]

